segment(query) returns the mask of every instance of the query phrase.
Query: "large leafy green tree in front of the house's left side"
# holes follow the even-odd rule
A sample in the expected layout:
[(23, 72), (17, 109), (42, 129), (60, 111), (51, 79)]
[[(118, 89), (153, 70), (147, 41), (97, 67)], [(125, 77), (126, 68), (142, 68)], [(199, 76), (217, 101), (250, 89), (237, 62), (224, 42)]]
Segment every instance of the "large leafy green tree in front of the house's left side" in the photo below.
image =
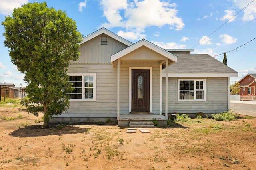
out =
[(50, 118), (70, 106), (66, 94), (73, 87), (66, 71), (69, 61), (78, 59), (82, 35), (75, 21), (61, 10), (48, 8), (46, 2), (14, 9), (2, 25), (11, 61), (28, 82), (28, 99), (22, 104), (36, 116), (44, 113), (44, 128), (48, 128)]

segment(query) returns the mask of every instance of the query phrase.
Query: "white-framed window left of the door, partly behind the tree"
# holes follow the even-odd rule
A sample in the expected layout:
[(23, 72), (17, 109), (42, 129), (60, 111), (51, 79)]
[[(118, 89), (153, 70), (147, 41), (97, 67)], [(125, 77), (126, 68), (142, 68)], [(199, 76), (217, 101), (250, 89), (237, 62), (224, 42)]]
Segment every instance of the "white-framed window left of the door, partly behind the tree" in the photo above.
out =
[(69, 74), (74, 90), (70, 101), (96, 101), (96, 74)]

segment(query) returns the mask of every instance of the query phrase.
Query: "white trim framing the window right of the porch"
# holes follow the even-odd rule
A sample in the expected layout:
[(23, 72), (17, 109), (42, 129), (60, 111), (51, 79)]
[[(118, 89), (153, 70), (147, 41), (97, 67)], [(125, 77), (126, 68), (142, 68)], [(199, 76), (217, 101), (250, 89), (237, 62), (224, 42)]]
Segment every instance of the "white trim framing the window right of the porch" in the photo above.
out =
[[(180, 99), (180, 81), (194, 81), (194, 99)], [(196, 81), (203, 81), (204, 99), (196, 99)], [(178, 79), (178, 101), (206, 101), (206, 79)]]

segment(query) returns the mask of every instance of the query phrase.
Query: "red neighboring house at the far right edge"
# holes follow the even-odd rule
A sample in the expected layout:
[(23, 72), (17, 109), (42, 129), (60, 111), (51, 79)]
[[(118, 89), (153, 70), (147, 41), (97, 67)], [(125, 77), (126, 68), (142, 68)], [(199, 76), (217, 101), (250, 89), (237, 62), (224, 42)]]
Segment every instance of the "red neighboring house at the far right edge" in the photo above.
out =
[(246, 99), (246, 95), (250, 95), (250, 96), (256, 95), (255, 79), (256, 79), (256, 74), (247, 74), (246, 76), (244, 76), (242, 79), (238, 81), (239, 83), (238, 87), (240, 88), (240, 95), (243, 95), (244, 99)]

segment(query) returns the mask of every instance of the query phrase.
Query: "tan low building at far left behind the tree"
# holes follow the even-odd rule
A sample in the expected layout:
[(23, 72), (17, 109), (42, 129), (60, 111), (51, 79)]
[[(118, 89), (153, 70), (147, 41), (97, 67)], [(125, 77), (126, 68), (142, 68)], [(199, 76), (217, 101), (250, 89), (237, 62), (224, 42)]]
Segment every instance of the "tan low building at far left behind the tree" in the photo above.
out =
[(15, 85), (12, 83), (0, 83), (0, 96), (8, 97), (8, 98), (16, 98), (18, 97), (18, 88), (15, 88)]

